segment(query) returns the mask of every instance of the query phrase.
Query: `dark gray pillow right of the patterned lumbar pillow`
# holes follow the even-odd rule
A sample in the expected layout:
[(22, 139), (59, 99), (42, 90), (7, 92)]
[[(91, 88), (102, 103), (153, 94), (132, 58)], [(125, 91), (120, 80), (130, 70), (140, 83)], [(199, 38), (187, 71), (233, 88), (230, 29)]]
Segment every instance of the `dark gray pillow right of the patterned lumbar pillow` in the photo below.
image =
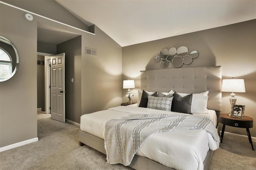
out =
[(172, 111), (191, 114), (192, 94), (181, 97), (174, 92), (172, 99)]

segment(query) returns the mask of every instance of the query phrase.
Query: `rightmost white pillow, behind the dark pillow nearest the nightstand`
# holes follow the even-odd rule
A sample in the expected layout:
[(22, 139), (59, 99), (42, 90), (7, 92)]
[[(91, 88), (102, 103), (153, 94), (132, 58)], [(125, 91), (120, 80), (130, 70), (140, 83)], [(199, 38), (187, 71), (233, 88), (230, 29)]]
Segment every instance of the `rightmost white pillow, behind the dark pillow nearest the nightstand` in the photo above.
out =
[[(178, 92), (177, 92), (178, 93)], [(203, 93), (193, 93), (191, 102), (191, 113), (203, 113), (208, 114), (207, 101), (209, 91)], [(178, 93), (181, 97), (190, 95), (188, 93)]]

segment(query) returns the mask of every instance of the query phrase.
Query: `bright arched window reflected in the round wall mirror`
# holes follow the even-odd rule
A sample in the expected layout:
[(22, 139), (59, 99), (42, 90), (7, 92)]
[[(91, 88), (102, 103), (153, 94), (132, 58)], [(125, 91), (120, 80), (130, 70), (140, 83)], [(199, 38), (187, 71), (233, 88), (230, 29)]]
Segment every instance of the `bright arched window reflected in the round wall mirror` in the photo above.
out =
[(12, 58), (0, 47), (0, 79), (6, 79), (12, 74)]

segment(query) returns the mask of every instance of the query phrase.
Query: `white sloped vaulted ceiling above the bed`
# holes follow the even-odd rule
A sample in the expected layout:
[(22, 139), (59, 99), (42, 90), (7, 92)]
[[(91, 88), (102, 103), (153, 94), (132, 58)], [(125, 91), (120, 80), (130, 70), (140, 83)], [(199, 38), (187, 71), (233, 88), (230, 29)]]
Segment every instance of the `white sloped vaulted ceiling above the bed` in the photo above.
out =
[(122, 47), (256, 19), (256, 0), (56, 2), (95, 24)]

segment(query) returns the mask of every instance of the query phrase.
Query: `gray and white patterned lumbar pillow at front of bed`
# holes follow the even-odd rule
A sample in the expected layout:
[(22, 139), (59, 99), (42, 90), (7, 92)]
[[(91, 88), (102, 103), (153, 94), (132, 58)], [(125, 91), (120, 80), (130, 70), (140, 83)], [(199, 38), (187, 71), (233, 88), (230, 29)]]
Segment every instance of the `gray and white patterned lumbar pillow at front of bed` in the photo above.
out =
[(154, 97), (148, 96), (147, 108), (157, 109), (163, 111), (171, 111), (172, 108), (172, 97)]

